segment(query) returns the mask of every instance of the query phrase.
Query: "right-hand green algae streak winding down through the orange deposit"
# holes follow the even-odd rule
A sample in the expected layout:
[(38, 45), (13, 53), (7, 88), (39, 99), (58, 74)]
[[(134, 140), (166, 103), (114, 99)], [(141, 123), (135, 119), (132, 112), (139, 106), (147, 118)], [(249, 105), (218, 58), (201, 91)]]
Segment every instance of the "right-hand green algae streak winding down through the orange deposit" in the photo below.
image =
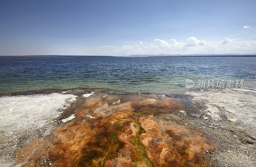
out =
[(131, 143), (135, 146), (135, 149), (139, 152), (139, 154), (143, 157), (144, 161), (147, 163), (147, 165), (149, 167), (152, 167), (152, 163), (151, 161), (148, 159), (148, 157), (146, 156), (146, 151), (145, 151), (145, 146), (140, 142), (140, 134), (145, 133), (145, 129), (143, 129), (138, 121), (139, 118), (138, 114), (136, 116), (136, 124), (138, 125), (138, 127), (140, 128), (139, 131), (137, 132), (136, 136), (132, 137), (131, 139)]

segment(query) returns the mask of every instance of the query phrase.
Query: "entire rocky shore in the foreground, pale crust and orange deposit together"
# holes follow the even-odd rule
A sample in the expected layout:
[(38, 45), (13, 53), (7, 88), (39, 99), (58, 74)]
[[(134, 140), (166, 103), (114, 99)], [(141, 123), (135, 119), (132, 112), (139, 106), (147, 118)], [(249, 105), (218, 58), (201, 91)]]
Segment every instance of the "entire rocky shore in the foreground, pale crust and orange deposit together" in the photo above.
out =
[[(256, 165), (256, 95), (252, 93), (255, 90), (250, 91), (251, 93), (241, 89), (219, 89), (167, 95), (74, 88), (7, 93), (0, 96), (0, 121), (10, 124), (10, 115), (26, 114), (29, 107), (33, 111), (30, 115), (25, 115), (28, 118), (24, 119), (31, 117), (34, 121), (29, 122), (29, 126), (26, 124), (19, 127), (19, 124), (24, 124), (24, 120), (16, 118), (13, 125), (10, 124), (14, 130), (3, 128), (6, 125), (0, 124), (3, 129), (1, 134), (4, 136), (1, 137), (3, 151), (0, 153), (0, 164), (63, 165), (71, 163), (63, 159), (69, 156), (72, 163), (76, 162), (78, 166), (89, 165), (88, 162), (104, 162), (103, 165), (127, 163), (133, 166), (150, 163), (182, 165), (181, 159), (191, 166), (253, 166)], [(49, 106), (52, 108), (49, 109)], [(10, 112), (9, 116), (3, 118), (3, 113), (7, 112)], [(44, 114), (43, 118), (40, 113)], [(50, 116), (51, 114), (53, 115)], [(92, 125), (93, 133), (89, 128)], [(140, 128), (144, 130), (139, 133)], [(104, 133), (97, 134), (99, 132)], [(93, 140), (84, 141), (82, 138), (86, 136), (77, 137), (73, 133), (95, 135), (87, 136)], [(138, 138), (133, 139), (137, 133)], [(110, 142), (113, 141), (112, 135), (117, 142)], [(99, 136), (109, 147), (97, 143)], [(73, 149), (78, 151), (76, 156), (68, 151), (71, 146), (66, 138), (73, 142)], [(133, 142), (127, 142), (129, 138)], [(92, 143), (93, 141), (96, 143)], [(59, 142), (63, 144), (59, 145)], [(81, 142), (85, 142), (82, 148)], [(153, 147), (152, 142), (155, 142), (157, 148)], [(170, 147), (170, 142), (176, 149)], [(88, 145), (90, 148), (87, 148)], [(185, 152), (179, 149), (183, 147), (186, 148)], [(34, 155), (28, 148), (39, 153)], [(133, 150), (132, 155), (127, 148)], [(164, 148), (166, 150), (163, 152)], [(92, 153), (95, 149), (97, 154), (93, 154), (91, 159), (83, 160), (86, 154), (81, 150)], [(40, 150), (44, 150), (44, 153)], [(58, 150), (67, 151), (58, 155)], [(126, 156), (120, 156), (120, 151)], [(181, 156), (181, 153), (185, 156)], [(170, 154), (178, 159), (174, 161), (167, 156)], [(35, 161), (38, 158), (40, 162)], [(154, 159), (162, 161), (156, 162)]]

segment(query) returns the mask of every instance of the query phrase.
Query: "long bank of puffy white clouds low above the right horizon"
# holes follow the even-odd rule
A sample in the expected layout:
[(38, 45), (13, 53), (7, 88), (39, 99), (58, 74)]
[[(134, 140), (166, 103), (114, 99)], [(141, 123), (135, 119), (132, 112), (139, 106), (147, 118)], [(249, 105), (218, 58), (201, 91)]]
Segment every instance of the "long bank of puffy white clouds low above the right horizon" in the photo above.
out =
[(133, 46), (115, 46), (116, 48), (112, 51), (115, 55), (256, 53), (256, 40), (243, 41), (242, 39), (229, 39), (226, 37), (220, 43), (216, 44), (205, 40), (199, 40), (196, 37), (188, 37), (186, 41), (186, 43), (182, 43), (175, 39), (155, 39), (148, 46), (143, 45), (143, 42), (139, 41), (138, 44)]

